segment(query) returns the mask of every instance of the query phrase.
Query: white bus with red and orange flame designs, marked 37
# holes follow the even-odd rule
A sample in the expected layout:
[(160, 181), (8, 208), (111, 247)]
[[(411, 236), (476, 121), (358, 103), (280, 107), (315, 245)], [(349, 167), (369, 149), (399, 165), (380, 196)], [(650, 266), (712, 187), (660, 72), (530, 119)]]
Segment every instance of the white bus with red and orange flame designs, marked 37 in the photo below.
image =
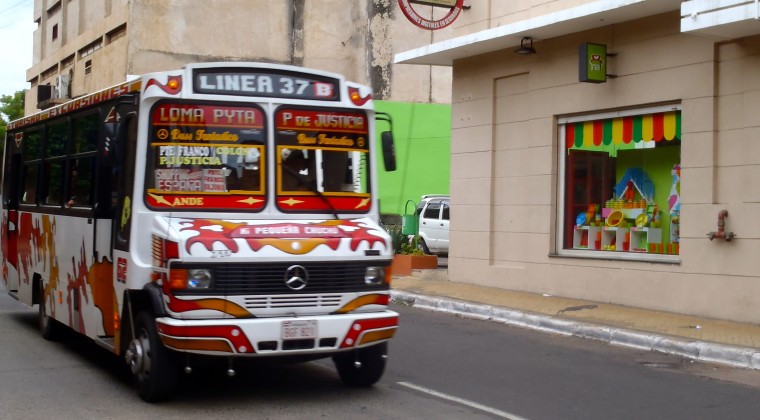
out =
[(261, 63), (146, 74), (7, 127), (2, 278), (123, 355), (146, 401), (203, 358), (332, 357), (370, 386), (398, 325), (369, 87)]

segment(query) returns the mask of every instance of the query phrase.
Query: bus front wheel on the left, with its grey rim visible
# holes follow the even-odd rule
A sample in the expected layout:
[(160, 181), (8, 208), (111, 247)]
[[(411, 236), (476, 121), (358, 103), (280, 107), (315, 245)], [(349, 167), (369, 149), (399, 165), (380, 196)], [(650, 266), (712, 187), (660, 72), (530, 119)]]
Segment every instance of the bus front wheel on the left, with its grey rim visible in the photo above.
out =
[(156, 321), (148, 313), (137, 315), (134, 331), (135, 337), (132, 337), (125, 356), (135, 379), (137, 394), (147, 402), (164, 401), (177, 387), (177, 358), (161, 343)]

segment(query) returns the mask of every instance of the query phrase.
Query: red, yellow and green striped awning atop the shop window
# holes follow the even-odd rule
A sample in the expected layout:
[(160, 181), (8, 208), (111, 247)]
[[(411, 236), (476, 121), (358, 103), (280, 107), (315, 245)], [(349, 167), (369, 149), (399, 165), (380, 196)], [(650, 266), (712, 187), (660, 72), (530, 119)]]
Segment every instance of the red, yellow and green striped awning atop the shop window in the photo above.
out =
[(681, 139), (681, 112), (660, 112), (565, 125), (567, 148)]

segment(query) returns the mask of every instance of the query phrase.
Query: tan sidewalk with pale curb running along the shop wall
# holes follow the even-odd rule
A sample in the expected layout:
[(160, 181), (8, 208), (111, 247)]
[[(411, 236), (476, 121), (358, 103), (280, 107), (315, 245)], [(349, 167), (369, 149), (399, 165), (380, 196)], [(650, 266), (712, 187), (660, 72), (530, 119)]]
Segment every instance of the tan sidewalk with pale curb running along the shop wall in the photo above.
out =
[(455, 283), (446, 269), (394, 277), (391, 287), (409, 306), (760, 369), (760, 325)]

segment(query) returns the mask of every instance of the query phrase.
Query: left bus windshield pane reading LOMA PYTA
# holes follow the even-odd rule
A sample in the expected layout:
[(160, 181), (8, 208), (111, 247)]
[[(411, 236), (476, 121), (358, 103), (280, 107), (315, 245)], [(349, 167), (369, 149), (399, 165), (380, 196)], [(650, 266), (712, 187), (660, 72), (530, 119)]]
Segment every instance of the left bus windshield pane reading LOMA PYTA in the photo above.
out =
[(149, 130), (147, 204), (263, 209), (265, 142), (264, 113), (255, 105), (157, 103)]

